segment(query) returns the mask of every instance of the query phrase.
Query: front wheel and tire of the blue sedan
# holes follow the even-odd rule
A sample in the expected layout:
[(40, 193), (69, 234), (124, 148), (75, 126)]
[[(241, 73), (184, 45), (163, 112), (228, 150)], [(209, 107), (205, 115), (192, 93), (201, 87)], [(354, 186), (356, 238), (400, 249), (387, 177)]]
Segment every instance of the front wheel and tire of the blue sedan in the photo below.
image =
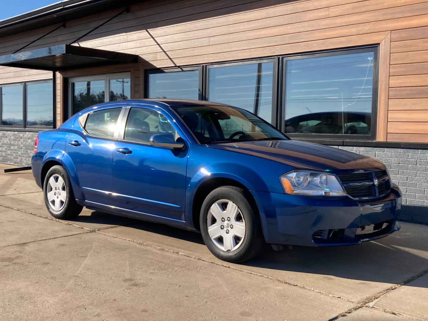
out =
[(239, 187), (222, 186), (209, 193), (199, 223), (206, 246), (220, 260), (244, 262), (265, 247), (257, 206), (250, 193)]

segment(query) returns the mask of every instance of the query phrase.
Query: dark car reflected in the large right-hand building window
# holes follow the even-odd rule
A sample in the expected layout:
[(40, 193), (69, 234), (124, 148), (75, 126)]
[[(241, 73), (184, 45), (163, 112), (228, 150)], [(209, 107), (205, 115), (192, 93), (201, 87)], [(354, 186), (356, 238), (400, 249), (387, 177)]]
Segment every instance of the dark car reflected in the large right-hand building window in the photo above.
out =
[(309, 113), (287, 119), (285, 121), (285, 132), (294, 134), (369, 135), (370, 123), (370, 113)]

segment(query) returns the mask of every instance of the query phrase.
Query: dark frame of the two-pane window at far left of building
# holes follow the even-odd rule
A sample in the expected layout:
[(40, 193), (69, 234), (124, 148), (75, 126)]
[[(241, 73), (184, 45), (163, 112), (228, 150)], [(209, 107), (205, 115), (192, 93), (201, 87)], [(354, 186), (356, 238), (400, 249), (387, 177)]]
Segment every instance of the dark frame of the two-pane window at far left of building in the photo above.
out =
[[(56, 108), (55, 108), (55, 100), (56, 95), (53, 93), (53, 87), (52, 87), (52, 126), (27, 126), (27, 86), (33, 85), (37, 83), (52, 83), (53, 86), (53, 80), (52, 79), (42, 79), (42, 80), (34, 80), (34, 81), (21, 81), (18, 83), (6, 83), (0, 85), (0, 130), (42, 130), (42, 129), (53, 129), (55, 128), (55, 116), (56, 116)], [(22, 86), (22, 126), (8, 126), (8, 125), (1, 125), (2, 116), (3, 116), (3, 95), (2, 95), (2, 88), (3, 87), (10, 87), (10, 86)]]

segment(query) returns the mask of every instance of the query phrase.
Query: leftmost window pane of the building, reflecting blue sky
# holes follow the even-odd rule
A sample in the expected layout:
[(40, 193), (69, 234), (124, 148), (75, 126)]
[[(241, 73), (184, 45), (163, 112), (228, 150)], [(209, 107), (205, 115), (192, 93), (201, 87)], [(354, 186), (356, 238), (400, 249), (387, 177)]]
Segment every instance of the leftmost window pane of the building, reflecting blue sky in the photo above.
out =
[(23, 86), (1, 87), (1, 125), (22, 127)]

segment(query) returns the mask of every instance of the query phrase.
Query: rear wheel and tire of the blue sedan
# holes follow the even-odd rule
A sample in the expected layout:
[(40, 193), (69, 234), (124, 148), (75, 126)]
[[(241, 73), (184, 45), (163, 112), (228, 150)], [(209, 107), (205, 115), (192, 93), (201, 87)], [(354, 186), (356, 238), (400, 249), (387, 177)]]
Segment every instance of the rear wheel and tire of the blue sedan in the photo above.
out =
[(65, 168), (52, 166), (45, 177), (43, 197), (49, 213), (59, 219), (69, 220), (77, 217), (83, 206), (77, 204), (71, 188), (70, 178)]

